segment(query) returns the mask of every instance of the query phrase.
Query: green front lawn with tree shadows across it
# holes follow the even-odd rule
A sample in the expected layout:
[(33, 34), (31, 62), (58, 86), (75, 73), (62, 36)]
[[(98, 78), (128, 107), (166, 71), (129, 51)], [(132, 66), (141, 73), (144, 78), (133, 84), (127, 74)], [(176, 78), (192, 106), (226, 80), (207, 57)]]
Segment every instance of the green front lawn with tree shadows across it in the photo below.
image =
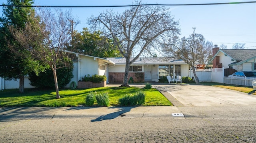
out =
[[(103, 87), (90, 89), (60, 90), (60, 99), (56, 99), (54, 90), (25, 89), (24, 94), (15, 90), (0, 91), (1, 107), (40, 107), (40, 106), (85, 106), (85, 97), (90, 92), (108, 92), (110, 106), (120, 106), (118, 99), (125, 94), (135, 94), (142, 90), (146, 93), (146, 103), (142, 106), (172, 106), (158, 90), (136, 87)], [(94, 106), (98, 106), (96, 101)]]

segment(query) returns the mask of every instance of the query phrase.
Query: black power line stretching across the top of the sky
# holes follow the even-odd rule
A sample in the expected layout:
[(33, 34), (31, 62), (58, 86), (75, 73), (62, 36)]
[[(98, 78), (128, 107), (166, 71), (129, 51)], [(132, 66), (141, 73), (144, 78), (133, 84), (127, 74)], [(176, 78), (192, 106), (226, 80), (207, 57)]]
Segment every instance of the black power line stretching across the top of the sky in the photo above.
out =
[(108, 7), (130, 7), (130, 6), (203, 6), (203, 5), (223, 5), (223, 4), (248, 4), (256, 3), (251, 2), (224, 2), (224, 3), (208, 3), (208, 4), (133, 4), (133, 5), (120, 5), (120, 6), (21, 6), (21, 5), (0, 5), (7, 7), (38, 7), (38, 8), (108, 8)]

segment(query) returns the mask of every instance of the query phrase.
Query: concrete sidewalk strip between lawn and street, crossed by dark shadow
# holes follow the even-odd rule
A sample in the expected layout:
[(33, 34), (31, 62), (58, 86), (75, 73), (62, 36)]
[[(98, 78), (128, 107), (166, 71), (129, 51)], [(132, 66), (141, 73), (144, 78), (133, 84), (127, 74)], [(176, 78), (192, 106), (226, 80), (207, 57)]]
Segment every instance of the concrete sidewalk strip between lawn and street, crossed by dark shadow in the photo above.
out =
[(174, 106), (0, 108), (0, 120), (62, 118), (83, 118), (92, 120), (105, 120), (114, 118), (184, 119), (184, 116), (172, 116), (172, 113), (181, 112)]

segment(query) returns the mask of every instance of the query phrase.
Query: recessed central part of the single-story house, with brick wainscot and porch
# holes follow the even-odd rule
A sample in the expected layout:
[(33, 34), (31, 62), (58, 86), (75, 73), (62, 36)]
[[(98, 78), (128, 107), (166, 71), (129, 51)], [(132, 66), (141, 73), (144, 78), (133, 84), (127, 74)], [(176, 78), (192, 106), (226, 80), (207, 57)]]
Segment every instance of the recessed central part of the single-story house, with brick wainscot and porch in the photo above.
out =
[[(112, 76), (114, 78), (114, 81), (109, 80), (109, 82), (122, 83), (124, 80), (126, 59), (121, 57), (107, 59), (115, 63), (113, 66), (108, 66), (108, 76)], [(140, 73), (140, 75), (138, 73)], [(158, 82), (162, 76), (167, 75), (173, 76), (174, 78), (178, 75), (189, 76), (189, 66), (183, 60), (173, 60), (160, 57), (138, 58), (130, 65), (129, 78), (132, 77), (134, 82)], [(142, 76), (142, 80), (137, 79), (136, 76)]]

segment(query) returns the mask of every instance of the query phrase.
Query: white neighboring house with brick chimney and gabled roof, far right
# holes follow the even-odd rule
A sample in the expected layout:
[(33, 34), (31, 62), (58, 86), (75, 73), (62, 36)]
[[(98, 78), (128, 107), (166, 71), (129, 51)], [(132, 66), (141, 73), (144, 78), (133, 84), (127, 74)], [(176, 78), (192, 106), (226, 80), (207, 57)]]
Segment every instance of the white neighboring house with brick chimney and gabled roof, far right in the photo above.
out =
[(256, 71), (256, 49), (220, 49), (217, 46), (213, 48), (214, 57), (210, 61), (212, 68)]

